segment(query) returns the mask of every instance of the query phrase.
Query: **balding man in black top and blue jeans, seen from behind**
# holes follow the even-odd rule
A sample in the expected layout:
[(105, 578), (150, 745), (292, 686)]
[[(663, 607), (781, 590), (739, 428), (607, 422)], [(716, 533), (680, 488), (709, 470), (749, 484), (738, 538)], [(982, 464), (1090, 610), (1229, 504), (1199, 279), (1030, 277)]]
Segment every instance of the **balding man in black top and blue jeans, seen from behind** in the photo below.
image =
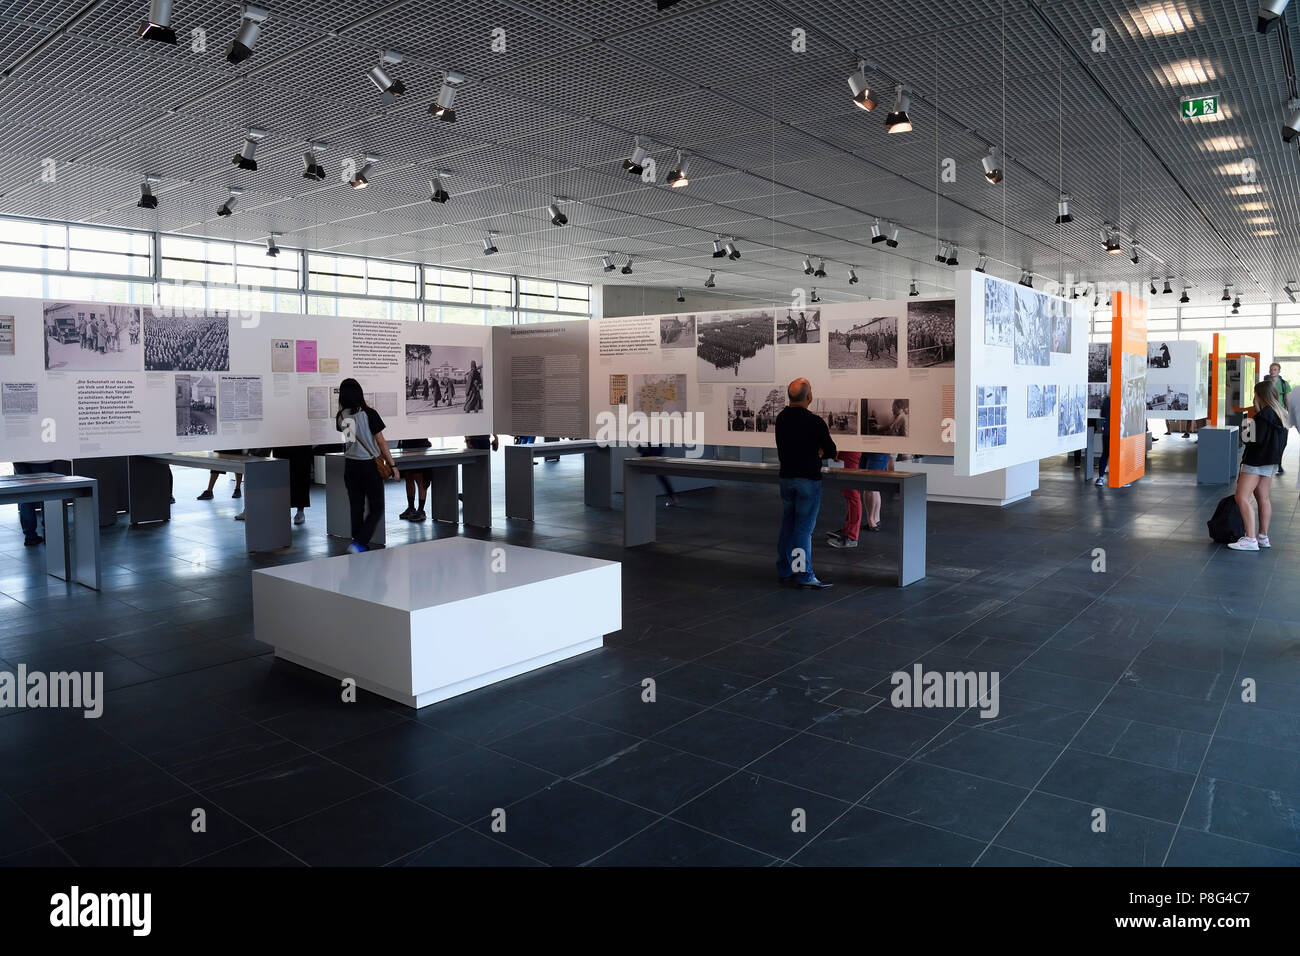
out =
[(822, 459), (838, 454), (826, 419), (809, 411), (812, 384), (796, 378), (789, 405), (776, 416), (776, 453), (781, 459), (781, 536), (776, 574), (783, 584), (829, 588), (812, 574), (812, 528), (822, 507)]

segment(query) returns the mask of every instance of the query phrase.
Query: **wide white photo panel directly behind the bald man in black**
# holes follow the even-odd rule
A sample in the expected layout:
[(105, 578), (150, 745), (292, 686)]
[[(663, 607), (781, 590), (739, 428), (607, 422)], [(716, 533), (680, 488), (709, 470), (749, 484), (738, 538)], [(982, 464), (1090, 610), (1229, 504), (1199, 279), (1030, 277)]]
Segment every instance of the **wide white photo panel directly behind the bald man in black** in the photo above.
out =
[(702, 418), (696, 441), (775, 447), (772, 420), (802, 377), (837, 447), (949, 455), (953, 308), (906, 298), (593, 319), (593, 437), (624, 410), (690, 412)]

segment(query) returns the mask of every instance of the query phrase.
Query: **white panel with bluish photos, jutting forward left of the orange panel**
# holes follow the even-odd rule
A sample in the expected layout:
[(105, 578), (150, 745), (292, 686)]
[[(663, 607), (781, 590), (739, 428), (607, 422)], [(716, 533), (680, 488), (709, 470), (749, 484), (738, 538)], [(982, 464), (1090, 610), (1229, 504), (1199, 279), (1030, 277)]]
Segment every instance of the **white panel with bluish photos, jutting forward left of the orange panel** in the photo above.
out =
[(1088, 316), (1082, 300), (974, 271), (957, 282), (959, 476), (1084, 446)]

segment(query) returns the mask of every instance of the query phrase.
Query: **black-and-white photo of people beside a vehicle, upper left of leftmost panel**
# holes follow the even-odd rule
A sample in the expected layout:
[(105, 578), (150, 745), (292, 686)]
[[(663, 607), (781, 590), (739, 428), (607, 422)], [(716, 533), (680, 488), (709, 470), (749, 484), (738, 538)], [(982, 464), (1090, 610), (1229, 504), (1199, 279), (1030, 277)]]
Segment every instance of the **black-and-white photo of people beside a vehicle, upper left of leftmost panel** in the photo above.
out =
[(51, 372), (139, 372), (142, 306), (46, 303), (46, 368)]

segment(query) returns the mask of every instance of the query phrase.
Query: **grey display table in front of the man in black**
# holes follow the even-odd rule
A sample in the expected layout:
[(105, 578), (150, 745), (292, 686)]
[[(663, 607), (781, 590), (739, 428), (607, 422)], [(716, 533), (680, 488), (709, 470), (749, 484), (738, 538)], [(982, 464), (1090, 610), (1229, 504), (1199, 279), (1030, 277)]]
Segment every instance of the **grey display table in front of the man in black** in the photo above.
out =
[[(780, 481), (780, 466), (758, 462), (716, 462), (682, 458), (629, 458), (623, 463), (623, 546), (655, 540), (655, 475), (684, 475), (714, 481)], [(898, 587), (926, 576), (926, 476), (902, 471), (823, 468), (823, 481), (833, 488), (862, 492), (898, 490)]]

